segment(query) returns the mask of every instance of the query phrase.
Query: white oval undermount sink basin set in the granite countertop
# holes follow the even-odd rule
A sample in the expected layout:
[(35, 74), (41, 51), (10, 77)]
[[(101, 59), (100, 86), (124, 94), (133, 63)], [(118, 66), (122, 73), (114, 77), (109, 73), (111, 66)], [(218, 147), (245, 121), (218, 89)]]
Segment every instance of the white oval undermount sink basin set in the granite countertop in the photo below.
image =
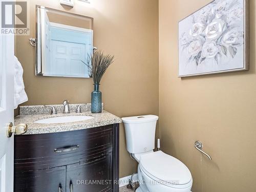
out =
[(84, 121), (84, 120), (93, 119), (93, 118), (94, 117), (92, 116), (85, 116), (85, 115), (62, 116), (62, 117), (40, 119), (35, 121), (35, 123), (70, 123), (70, 122)]

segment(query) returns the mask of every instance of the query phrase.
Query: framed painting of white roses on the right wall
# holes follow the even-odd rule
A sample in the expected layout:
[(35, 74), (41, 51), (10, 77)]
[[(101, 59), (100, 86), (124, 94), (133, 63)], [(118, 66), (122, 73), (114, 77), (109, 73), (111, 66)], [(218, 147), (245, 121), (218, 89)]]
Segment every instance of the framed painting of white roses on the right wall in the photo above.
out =
[(215, 0), (179, 22), (179, 77), (249, 69), (247, 6)]

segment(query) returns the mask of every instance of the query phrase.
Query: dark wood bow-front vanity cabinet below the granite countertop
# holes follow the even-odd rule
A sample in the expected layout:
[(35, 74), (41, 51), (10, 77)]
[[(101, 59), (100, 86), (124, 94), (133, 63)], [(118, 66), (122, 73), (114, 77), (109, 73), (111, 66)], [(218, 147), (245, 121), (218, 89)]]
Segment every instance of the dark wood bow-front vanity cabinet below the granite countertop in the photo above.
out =
[(119, 191), (119, 124), (14, 137), (15, 192)]

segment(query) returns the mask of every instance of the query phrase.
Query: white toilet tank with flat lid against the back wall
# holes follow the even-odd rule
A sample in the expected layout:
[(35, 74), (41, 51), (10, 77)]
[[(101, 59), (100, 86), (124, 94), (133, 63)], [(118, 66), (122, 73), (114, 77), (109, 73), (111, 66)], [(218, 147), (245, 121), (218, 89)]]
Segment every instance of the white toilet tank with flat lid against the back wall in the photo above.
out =
[(122, 118), (126, 148), (129, 153), (137, 154), (154, 150), (157, 120), (156, 115)]

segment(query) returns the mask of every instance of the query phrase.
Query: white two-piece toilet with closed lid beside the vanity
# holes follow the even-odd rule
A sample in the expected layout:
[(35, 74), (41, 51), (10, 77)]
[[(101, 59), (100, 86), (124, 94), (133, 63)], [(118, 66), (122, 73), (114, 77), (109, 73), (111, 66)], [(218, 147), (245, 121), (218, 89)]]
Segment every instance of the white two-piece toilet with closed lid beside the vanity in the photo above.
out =
[(139, 162), (136, 192), (190, 192), (193, 179), (180, 160), (154, 152), (158, 116), (124, 117), (127, 151)]

